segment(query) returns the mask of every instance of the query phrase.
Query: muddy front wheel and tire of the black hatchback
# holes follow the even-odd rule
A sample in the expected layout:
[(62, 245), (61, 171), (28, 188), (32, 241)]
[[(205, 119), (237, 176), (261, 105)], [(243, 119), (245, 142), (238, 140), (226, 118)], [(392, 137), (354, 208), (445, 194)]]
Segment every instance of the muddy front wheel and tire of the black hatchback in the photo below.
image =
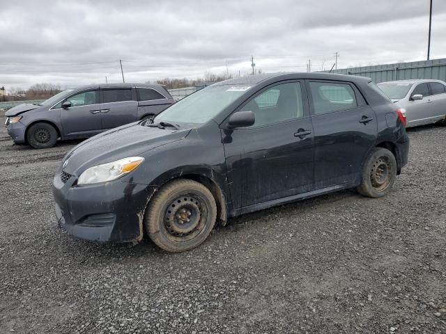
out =
[(177, 253), (205, 241), (216, 218), (217, 205), (206, 186), (174, 180), (162, 186), (149, 202), (144, 225), (157, 246)]

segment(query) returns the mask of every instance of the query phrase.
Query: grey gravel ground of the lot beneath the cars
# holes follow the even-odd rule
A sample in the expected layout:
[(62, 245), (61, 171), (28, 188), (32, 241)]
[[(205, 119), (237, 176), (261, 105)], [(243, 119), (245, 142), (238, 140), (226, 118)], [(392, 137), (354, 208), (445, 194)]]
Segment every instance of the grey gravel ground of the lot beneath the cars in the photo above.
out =
[(380, 199), (355, 191), (233, 218), (199, 248), (72, 239), (51, 182), (77, 142), (0, 130), (0, 333), (446, 333), (446, 128), (410, 130)]

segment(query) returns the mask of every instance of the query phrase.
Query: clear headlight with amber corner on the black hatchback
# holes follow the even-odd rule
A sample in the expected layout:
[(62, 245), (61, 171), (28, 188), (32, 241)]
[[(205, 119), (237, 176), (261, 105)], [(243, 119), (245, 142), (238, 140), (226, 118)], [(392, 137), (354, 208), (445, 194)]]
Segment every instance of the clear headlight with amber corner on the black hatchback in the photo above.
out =
[(137, 168), (143, 157), (128, 157), (107, 164), (90, 167), (79, 176), (77, 184), (92, 184), (116, 180), (127, 173), (130, 173), (134, 168)]

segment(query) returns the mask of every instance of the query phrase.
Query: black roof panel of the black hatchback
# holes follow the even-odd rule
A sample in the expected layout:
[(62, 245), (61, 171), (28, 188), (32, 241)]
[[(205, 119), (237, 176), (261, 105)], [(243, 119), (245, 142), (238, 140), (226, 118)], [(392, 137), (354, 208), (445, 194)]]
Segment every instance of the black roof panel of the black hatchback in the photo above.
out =
[(215, 86), (221, 85), (243, 85), (243, 84), (260, 84), (262, 81), (268, 79), (275, 80), (289, 80), (289, 79), (314, 79), (314, 80), (339, 80), (339, 81), (367, 81), (371, 79), (367, 77), (358, 77), (350, 74), (334, 74), (334, 73), (322, 73), (322, 72), (280, 72), (280, 73), (267, 73), (267, 74), (255, 74), (247, 75), (245, 77), (229, 79), (220, 81), (214, 84)]

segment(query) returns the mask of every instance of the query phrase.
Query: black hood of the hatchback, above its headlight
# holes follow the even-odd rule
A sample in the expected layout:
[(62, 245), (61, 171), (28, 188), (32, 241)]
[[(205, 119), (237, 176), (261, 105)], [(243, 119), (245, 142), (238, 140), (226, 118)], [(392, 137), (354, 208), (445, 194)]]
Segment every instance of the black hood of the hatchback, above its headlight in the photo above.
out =
[(153, 148), (179, 141), (189, 132), (190, 129), (146, 127), (139, 122), (123, 125), (77, 145), (63, 159), (63, 164), (66, 164), (63, 170), (79, 176), (91, 166), (139, 156)]

